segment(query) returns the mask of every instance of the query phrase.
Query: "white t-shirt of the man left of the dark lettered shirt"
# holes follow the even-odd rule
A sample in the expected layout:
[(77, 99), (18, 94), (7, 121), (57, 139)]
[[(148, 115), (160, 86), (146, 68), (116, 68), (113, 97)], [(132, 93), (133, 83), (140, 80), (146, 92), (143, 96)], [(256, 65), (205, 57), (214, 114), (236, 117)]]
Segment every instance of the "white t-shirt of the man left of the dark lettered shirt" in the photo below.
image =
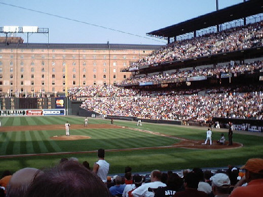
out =
[(151, 182), (151, 183), (145, 183), (141, 186), (139, 186), (137, 189), (134, 189), (132, 191), (132, 195), (134, 197), (141, 197), (141, 196), (145, 196), (145, 197), (154, 197), (155, 194), (152, 191), (148, 191), (148, 188), (158, 188), (158, 187), (165, 187), (166, 184), (162, 183), (161, 181), (155, 181), (155, 182)]

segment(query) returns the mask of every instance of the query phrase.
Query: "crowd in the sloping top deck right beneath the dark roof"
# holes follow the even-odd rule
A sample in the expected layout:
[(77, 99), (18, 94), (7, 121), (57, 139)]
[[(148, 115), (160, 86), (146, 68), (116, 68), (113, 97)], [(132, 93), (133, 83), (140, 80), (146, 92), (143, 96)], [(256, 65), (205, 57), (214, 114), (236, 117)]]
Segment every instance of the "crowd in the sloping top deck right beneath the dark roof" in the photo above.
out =
[(195, 57), (210, 56), (217, 53), (238, 51), (263, 45), (263, 21), (234, 27), (217, 33), (175, 41), (147, 57), (143, 57), (130, 67), (153, 65), (161, 62), (184, 60)]

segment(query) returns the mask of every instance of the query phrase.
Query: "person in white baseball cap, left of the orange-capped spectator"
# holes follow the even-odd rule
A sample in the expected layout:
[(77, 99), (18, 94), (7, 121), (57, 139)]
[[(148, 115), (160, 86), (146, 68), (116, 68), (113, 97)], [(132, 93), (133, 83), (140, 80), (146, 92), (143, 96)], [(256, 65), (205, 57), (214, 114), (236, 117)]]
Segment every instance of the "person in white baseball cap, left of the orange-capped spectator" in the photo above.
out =
[(210, 178), (212, 181), (212, 191), (214, 197), (227, 197), (229, 196), (230, 179), (224, 173), (217, 173)]

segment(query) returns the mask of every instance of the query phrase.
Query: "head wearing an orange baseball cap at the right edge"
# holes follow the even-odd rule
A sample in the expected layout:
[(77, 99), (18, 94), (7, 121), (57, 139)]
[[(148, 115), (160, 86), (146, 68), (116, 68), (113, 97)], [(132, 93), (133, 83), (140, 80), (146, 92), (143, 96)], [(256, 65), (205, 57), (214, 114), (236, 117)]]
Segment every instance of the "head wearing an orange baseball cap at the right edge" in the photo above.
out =
[(246, 170), (246, 179), (248, 182), (254, 179), (263, 179), (263, 159), (249, 159), (240, 169)]

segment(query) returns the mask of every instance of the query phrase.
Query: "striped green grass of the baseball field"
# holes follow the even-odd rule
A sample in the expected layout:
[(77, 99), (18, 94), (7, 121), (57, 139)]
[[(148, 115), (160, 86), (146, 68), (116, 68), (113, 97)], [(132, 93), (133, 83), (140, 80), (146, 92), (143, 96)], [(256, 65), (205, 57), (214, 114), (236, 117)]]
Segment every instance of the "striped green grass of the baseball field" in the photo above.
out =
[[(21, 125), (64, 125), (83, 124), (84, 117), (77, 116), (42, 116), (42, 117), (1, 117), (2, 126)], [(89, 118), (89, 124), (110, 124), (109, 120)], [(137, 128), (135, 122), (114, 121), (115, 125)], [(99, 148), (128, 149), (139, 147), (169, 146), (178, 140), (143, 133), (129, 128), (125, 129), (78, 129), (70, 130), (71, 135), (86, 135), (90, 139), (74, 141), (51, 140), (52, 136), (65, 135), (65, 130), (23, 131), (0, 133), (0, 155), (15, 155), (0, 159), (0, 173), (4, 170), (16, 171), (24, 167), (45, 168), (59, 162), (62, 157), (77, 157), (80, 162), (88, 161), (90, 166), (97, 161), (96, 152), (79, 151), (97, 150)], [(204, 140), (206, 128), (186, 128), (173, 125), (142, 123), (143, 130), (159, 132), (175, 137)], [(213, 132), (213, 139), (219, 139), (221, 132)], [(216, 168), (242, 165), (251, 157), (263, 158), (263, 137), (242, 135), (234, 132), (234, 142), (244, 146), (237, 149), (201, 150), (185, 148), (145, 149), (106, 151), (105, 160), (110, 164), (110, 174), (123, 173), (125, 166), (131, 166), (133, 172), (149, 172), (154, 169), (162, 171), (201, 167)], [(26, 156), (32, 153), (53, 153), (57, 155)], [(65, 152), (79, 152), (65, 154)], [(20, 156), (19, 154), (23, 154)]]

